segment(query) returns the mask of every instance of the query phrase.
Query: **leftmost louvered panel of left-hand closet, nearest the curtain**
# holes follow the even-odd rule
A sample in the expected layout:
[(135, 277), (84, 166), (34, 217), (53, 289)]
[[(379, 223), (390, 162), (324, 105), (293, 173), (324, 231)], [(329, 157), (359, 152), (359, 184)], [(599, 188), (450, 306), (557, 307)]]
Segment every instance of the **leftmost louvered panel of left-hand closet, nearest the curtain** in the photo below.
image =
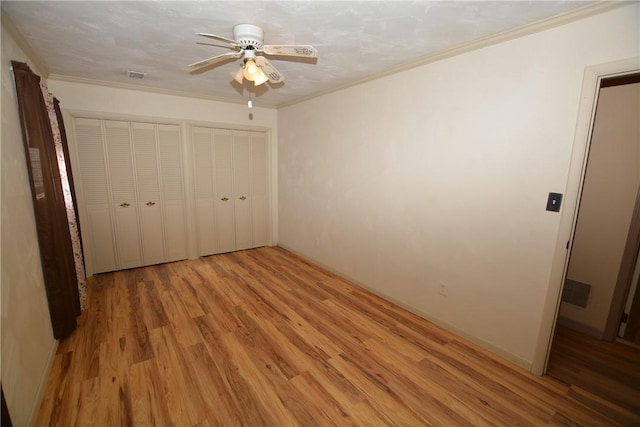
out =
[(82, 224), (82, 236), (88, 237), (82, 242), (87, 267), (94, 273), (112, 271), (117, 267), (102, 124), (100, 120), (78, 118), (74, 128), (87, 220)]

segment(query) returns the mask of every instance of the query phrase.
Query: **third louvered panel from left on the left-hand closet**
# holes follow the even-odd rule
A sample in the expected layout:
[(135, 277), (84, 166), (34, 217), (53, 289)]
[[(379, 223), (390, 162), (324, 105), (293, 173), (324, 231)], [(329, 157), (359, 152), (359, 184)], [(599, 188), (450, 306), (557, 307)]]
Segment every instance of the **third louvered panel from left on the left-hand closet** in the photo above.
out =
[(150, 123), (131, 123), (131, 134), (135, 154), (142, 264), (158, 264), (165, 260), (165, 247), (156, 126)]

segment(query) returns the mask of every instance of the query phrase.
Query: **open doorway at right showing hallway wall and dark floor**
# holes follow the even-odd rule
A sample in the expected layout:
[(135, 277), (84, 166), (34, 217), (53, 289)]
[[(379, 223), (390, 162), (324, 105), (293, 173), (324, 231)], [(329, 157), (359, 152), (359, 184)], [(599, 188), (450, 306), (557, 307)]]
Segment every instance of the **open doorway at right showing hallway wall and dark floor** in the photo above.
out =
[(636, 412), (640, 72), (599, 76), (597, 88), (546, 373)]

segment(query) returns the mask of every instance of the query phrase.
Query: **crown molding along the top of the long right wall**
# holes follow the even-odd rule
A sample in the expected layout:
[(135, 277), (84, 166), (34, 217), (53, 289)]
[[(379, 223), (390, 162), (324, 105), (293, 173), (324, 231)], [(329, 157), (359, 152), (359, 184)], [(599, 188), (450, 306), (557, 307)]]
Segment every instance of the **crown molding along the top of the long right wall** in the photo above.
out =
[(420, 67), (422, 65), (430, 64), (433, 62), (441, 61), (443, 59), (451, 58), (453, 56), (462, 55), (467, 52), (482, 49), (484, 47), (496, 45), (509, 40), (514, 40), (530, 34), (539, 33), (541, 31), (545, 31), (551, 28), (569, 24), (574, 21), (579, 21), (581, 19), (588, 18), (593, 15), (598, 15), (600, 13), (608, 12), (620, 6), (625, 6), (625, 5), (634, 4), (634, 3), (638, 3), (638, 2), (626, 1), (626, 0), (596, 0), (594, 3), (576, 8), (574, 10), (562, 13), (560, 15), (541, 19), (539, 21), (522, 25), (520, 27), (513, 28), (510, 30), (505, 30), (505, 31), (493, 34), (491, 36), (485, 37), (483, 39), (473, 41), (471, 43), (463, 44), (463, 45), (460, 45), (460, 46), (457, 46), (433, 55), (425, 56), (423, 58), (417, 59), (415, 61), (412, 61), (406, 64), (402, 64), (396, 67), (391, 67), (385, 71), (376, 73), (374, 75), (371, 75), (362, 79), (354, 80), (352, 82), (345, 83), (343, 85), (340, 85), (331, 89), (327, 89), (324, 91), (315, 92), (313, 94), (303, 96), (301, 98), (297, 98), (293, 101), (280, 103), (277, 105), (277, 108), (279, 109), (279, 108), (289, 107), (291, 105), (299, 104), (301, 102), (308, 101), (310, 99), (318, 98), (320, 96), (328, 95), (333, 92), (338, 92), (343, 89), (347, 89), (353, 86), (358, 86), (373, 80), (377, 80), (382, 77), (400, 73), (402, 71), (407, 71), (407, 70)]

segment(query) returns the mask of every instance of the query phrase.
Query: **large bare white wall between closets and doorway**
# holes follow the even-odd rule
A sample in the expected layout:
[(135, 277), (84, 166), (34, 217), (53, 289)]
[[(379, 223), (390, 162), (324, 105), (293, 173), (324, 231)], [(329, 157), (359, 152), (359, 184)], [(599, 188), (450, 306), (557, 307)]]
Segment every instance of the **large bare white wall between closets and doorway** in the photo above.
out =
[(638, 56), (639, 13), (279, 110), (280, 243), (531, 367), (583, 72)]

